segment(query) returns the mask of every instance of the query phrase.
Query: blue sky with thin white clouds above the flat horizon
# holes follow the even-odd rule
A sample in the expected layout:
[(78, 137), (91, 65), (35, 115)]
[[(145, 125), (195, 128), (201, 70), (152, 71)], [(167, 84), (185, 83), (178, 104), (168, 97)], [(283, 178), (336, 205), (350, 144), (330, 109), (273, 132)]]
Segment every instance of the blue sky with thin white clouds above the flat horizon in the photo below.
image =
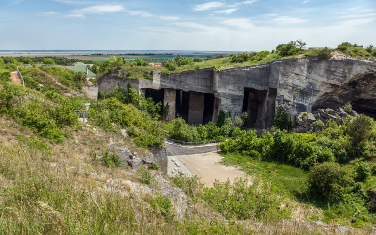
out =
[(0, 50), (376, 45), (375, 0), (0, 0)]

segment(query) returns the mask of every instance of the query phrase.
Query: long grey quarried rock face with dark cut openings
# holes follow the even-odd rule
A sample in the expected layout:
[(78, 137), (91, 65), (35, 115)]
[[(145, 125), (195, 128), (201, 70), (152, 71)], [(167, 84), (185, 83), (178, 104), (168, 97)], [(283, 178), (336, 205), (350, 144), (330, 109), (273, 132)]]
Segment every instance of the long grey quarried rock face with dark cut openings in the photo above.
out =
[[(217, 121), (220, 109), (238, 116), (245, 110), (253, 112), (254, 127), (264, 128), (279, 106), (295, 119), (301, 112), (321, 108), (330, 109), (327, 114), (336, 116), (334, 110), (347, 102), (354, 110), (376, 117), (376, 64), (372, 62), (304, 57), (222, 71), (213, 68), (171, 74), (152, 71), (153, 80), (119, 78), (119, 75), (113, 72), (98, 78), (98, 91), (120, 85), (127, 92), (130, 83), (140, 93), (146, 89), (169, 89), (168, 97), (173, 89), (213, 94), (214, 104), (210, 104), (213, 121)], [(180, 92), (176, 92), (176, 97), (177, 94)], [(195, 115), (200, 114), (200, 120), (201, 109), (200, 106), (200, 110), (192, 110)]]

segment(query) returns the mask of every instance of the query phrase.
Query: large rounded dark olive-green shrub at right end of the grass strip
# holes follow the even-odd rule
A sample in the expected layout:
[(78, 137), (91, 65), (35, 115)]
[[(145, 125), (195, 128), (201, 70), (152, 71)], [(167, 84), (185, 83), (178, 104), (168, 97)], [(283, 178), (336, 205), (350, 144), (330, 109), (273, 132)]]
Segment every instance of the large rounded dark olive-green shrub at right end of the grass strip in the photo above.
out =
[(353, 185), (354, 180), (338, 163), (324, 162), (309, 169), (308, 183), (312, 193), (336, 201), (342, 196), (341, 188)]

